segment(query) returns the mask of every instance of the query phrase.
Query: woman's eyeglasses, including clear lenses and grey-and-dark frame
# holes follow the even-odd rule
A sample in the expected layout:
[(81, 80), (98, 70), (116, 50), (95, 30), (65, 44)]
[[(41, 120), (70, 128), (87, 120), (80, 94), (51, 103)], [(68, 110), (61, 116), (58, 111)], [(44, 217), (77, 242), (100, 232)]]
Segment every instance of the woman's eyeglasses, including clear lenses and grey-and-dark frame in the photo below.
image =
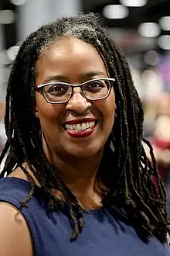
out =
[(90, 100), (106, 99), (110, 95), (114, 78), (100, 78), (85, 81), (80, 85), (71, 85), (65, 82), (50, 82), (48, 84), (38, 85), (36, 91), (41, 92), (47, 102), (51, 104), (61, 104), (69, 102), (73, 95), (73, 89), (81, 88), (82, 95)]

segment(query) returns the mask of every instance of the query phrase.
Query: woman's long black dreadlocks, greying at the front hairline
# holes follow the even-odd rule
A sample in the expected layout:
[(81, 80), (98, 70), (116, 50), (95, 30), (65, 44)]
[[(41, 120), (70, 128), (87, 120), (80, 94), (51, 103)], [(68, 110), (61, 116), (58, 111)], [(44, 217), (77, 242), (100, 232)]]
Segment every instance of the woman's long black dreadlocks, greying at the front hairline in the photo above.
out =
[[(170, 233), (165, 187), (158, 175), (152, 147), (142, 137), (144, 112), (141, 100), (124, 55), (92, 13), (80, 13), (42, 26), (22, 43), (8, 81), (5, 110), (7, 142), (0, 162), (4, 157), (6, 160), (1, 177), (9, 175), (16, 165), (22, 168), (32, 185), (28, 197), (22, 202), (27, 206), (37, 186), (22, 166), (26, 162), (41, 186), (49, 209), (57, 211), (66, 207), (73, 228), (70, 239), (75, 240), (80, 234), (84, 226), (83, 209), (46, 159), (39, 139), (39, 120), (32, 107), (35, 104), (36, 61), (46, 54), (52, 43), (69, 36), (95, 47), (107, 64), (110, 77), (116, 80), (116, 118), (97, 172), (108, 189), (103, 205), (123, 209), (142, 240), (147, 241), (154, 235), (164, 243), (167, 232)], [(110, 143), (114, 144), (114, 152), (110, 151)], [(152, 163), (145, 154), (143, 143), (150, 148)], [(53, 189), (61, 192), (63, 198), (58, 199)]]

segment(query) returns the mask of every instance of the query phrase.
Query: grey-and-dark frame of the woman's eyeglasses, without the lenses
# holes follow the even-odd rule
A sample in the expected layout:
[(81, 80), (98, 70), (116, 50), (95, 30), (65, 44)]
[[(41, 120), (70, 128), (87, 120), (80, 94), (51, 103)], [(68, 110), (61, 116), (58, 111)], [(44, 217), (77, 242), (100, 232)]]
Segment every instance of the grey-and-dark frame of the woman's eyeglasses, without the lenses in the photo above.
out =
[[(83, 83), (81, 83), (79, 85), (72, 85), (72, 84), (69, 84), (69, 83), (65, 83), (63, 81), (56, 81), (56, 82), (46, 83), (46, 84), (43, 84), (43, 85), (38, 85), (36, 87), (36, 91), (42, 93), (44, 99), (46, 99), (46, 102), (49, 102), (50, 104), (63, 104), (63, 103), (69, 102), (71, 97), (73, 96), (73, 89), (76, 88), (76, 87), (81, 88), (81, 92), (82, 92), (83, 97), (86, 98), (90, 102), (94, 102), (96, 100), (101, 100), (101, 99), (106, 99), (110, 95), (112, 86), (110, 86), (107, 95), (102, 97), (102, 98), (90, 99), (89, 97), (87, 97), (87, 95), (83, 92), (83, 86), (86, 85), (87, 83), (89, 83), (90, 81), (113, 81), (113, 82), (115, 82), (116, 80), (114, 78), (94, 78), (94, 79), (90, 79), (88, 81), (84, 81)], [(45, 89), (44, 89), (46, 87), (46, 85), (68, 85), (68, 86), (70, 86), (72, 88), (72, 90), (70, 92), (69, 99), (66, 99), (63, 102), (51, 102), (51, 101), (49, 101), (49, 99), (46, 98), (46, 92), (45, 92)]]

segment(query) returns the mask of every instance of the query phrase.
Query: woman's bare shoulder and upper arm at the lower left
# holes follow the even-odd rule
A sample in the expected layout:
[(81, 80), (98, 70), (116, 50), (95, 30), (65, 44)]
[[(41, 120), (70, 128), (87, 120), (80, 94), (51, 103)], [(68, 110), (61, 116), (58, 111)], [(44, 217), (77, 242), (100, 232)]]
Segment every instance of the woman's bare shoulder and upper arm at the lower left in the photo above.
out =
[(1, 256), (32, 256), (32, 238), (24, 216), (14, 206), (0, 202)]

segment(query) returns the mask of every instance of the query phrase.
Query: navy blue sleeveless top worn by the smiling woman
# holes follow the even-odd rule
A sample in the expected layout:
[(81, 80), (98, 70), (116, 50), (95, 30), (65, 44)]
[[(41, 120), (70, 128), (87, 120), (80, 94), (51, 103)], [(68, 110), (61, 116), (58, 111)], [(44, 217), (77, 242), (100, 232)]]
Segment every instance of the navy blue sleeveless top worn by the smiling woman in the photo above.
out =
[(30, 191), (30, 184), (20, 178), (0, 180), (0, 201), (18, 208), (29, 225), (36, 256), (169, 256), (168, 245), (151, 237), (148, 244), (136, 235), (130, 223), (117, 220), (108, 209), (85, 213), (85, 227), (70, 242), (72, 228), (66, 213), (50, 212), (42, 195), (34, 195), (28, 208), (20, 202)]

